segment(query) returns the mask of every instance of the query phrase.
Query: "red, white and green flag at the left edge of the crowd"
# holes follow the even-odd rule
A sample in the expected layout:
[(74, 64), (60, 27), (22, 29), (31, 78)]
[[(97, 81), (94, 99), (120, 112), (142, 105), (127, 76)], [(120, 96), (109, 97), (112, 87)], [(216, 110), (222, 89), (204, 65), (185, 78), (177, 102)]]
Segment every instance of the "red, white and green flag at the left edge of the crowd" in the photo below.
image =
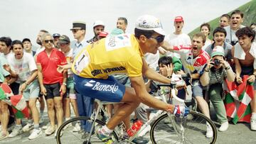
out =
[(0, 84), (0, 100), (12, 107), (16, 118), (28, 118), (28, 107), (23, 95), (14, 95), (8, 84)]

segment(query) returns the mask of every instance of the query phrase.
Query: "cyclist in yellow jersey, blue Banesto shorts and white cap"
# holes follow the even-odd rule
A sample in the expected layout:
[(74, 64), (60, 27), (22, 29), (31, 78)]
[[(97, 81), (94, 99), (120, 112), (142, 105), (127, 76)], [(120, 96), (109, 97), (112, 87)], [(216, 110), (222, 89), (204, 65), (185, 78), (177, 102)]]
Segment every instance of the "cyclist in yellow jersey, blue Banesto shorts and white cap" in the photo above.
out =
[[(124, 103), (110, 121), (97, 131), (101, 140), (110, 140), (110, 133), (121, 121), (129, 126), (129, 115), (141, 102), (155, 109), (170, 111), (176, 116), (188, 114), (184, 106), (166, 104), (146, 92), (142, 75), (161, 83), (171, 82), (171, 79), (149, 68), (143, 57), (146, 52), (155, 54), (163, 44), (165, 34), (161, 22), (154, 16), (140, 16), (134, 33), (110, 36), (88, 45), (75, 57), (72, 65), (76, 90), (80, 94), (101, 101)], [(59, 67), (60, 70), (63, 68), (68, 67)], [(127, 73), (132, 88), (119, 84), (109, 76), (112, 73)]]

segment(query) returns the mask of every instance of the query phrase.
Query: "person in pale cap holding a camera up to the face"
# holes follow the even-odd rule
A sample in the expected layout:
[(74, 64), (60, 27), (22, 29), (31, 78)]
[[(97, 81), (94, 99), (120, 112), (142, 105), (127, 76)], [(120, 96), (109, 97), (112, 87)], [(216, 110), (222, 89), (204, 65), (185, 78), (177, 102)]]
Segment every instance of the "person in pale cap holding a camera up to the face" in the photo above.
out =
[(211, 59), (208, 60), (200, 81), (203, 86), (208, 86), (208, 96), (221, 124), (219, 131), (227, 131), (228, 118), (222, 99), (223, 80), (228, 79), (229, 82), (234, 82), (235, 73), (230, 68), (228, 62), (225, 61), (225, 53), (222, 46), (218, 45), (213, 48), (210, 56)]

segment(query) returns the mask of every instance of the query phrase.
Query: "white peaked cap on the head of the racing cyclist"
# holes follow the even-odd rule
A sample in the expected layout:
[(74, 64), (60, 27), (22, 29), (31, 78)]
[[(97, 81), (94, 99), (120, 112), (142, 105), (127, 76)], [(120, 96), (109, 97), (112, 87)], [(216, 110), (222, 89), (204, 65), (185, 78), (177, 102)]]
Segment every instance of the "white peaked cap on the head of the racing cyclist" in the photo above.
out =
[(161, 35), (166, 35), (166, 33), (164, 33), (159, 18), (151, 15), (143, 15), (137, 18), (135, 28), (138, 28), (140, 30), (153, 30)]

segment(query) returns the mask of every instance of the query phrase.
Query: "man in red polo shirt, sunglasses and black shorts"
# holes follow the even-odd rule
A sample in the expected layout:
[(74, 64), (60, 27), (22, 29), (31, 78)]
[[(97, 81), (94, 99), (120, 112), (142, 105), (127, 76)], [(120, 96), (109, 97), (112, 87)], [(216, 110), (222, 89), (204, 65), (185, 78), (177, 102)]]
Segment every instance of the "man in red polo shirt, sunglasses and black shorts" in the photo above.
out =
[(66, 92), (67, 72), (57, 71), (58, 65), (66, 65), (67, 61), (63, 52), (53, 48), (53, 37), (49, 33), (42, 36), (45, 50), (37, 56), (38, 81), (41, 93), (45, 96), (48, 108), (50, 125), (45, 133), (51, 135), (55, 132), (55, 112), (58, 127), (63, 123), (62, 96)]

